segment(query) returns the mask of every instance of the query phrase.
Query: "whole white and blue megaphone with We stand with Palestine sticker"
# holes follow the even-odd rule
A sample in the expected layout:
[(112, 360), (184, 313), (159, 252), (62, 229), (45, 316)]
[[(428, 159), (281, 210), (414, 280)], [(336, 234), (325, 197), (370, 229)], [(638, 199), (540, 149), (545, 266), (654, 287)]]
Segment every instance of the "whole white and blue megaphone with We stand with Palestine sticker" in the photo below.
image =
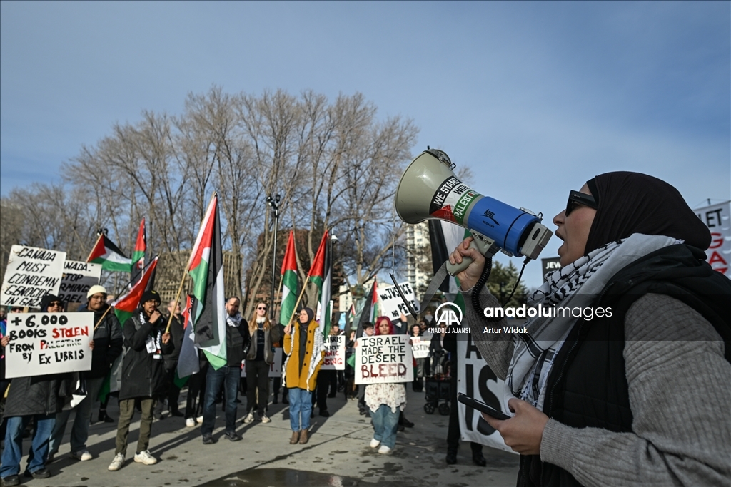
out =
[[(396, 189), (401, 220), (420, 223), (438, 218), (463, 226), (474, 235), (472, 246), (487, 257), (501, 250), (509, 256), (537, 258), (553, 235), (541, 224), (541, 216), (477, 193), (455, 176), (454, 167), (442, 150), (429, 149), (417, 156)], [(452, 266), (447, 261), (447, 271), (455, 275), (470, 263), (463, 259)]]

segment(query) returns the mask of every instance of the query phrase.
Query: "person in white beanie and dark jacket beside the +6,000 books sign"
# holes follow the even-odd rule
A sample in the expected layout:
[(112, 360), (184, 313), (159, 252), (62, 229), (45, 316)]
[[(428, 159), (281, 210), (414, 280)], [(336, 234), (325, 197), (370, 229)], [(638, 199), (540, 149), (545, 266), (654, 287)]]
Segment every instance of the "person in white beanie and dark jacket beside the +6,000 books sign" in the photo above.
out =
[[(86, 397), (73, 408), (76, 411), (71, 429), (71, 458), (80, 461), (91, 460), (91, 453), (86, 449), (89, 425), (91, 424), (91, 406), (96, 402), (96, 396), (102, 388), (112, 364), (122, 353), (122, 328), (107, 304), (107, 290), (101, 285), (93, 285), (86, 293), (88, 303), (80, 312), (94, 313), (94, 340), (91, 341), (91, 370), (81, 372), (80, 380), (84, 381)], [(61, 440), (64, 437), (66, 424), (72, 409), (66, 409), (56, 415), (56, 426), (50, 437), (50, 453), (48, 461), (58, 453)]]

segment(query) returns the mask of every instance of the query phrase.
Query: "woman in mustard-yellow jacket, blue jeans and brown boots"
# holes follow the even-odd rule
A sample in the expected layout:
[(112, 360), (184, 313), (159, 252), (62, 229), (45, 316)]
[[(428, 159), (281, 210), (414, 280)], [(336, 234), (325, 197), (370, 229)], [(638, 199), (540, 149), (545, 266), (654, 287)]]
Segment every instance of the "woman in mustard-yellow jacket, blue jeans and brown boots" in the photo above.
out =
[(295, 326), (289, 323), (284, 328), (284, 353), (287, 353), (284, 386), (289, 391), (289, 424), (292, 426), (289, 443), (292, 445), (297, 442), (304, 445), (308, 440), (312, 391), (325, 356), (325, 342), (314, 315), (310, 308), (303, 308)]

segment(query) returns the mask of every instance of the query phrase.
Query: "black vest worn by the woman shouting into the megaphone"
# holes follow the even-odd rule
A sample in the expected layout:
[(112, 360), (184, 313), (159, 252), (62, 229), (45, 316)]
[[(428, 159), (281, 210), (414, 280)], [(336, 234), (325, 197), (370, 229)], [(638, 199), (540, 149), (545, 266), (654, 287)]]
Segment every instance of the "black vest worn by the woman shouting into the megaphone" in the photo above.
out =
[[(594, 302), (611, 307), (611, 318), (580, 319), (558, 352), (548, 377), (543, 412), (575, 428), (632, 431), (629, 386), (624, 367), (624, 317), (645, 294), (665, 294), (688, 304), (721, 335), (731, 362), (731, 280), (713, 271), (705, 253), (671, 245), (619, 271)], [(601, 461), (601, 459), (597, 459)], [(521, 456), (519, 487), (580, 486), (566, 470)]]

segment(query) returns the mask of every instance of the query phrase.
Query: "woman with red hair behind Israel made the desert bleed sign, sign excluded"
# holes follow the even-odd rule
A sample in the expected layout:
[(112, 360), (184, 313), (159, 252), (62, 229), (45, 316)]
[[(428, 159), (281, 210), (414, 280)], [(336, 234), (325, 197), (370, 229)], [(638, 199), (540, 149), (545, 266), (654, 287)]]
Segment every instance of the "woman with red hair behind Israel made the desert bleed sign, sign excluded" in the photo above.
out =
[[(376, 323), (377, 336), (394, 334), (394, 326), (386, 316), (376, 319)], [(391, 453), (396, 445), (398, 414), (406, 406), (406, 388), (402, 383), (368, 384), (365, 396), (373, 419), (371, 448), (380, 445), (378, 453)]]

